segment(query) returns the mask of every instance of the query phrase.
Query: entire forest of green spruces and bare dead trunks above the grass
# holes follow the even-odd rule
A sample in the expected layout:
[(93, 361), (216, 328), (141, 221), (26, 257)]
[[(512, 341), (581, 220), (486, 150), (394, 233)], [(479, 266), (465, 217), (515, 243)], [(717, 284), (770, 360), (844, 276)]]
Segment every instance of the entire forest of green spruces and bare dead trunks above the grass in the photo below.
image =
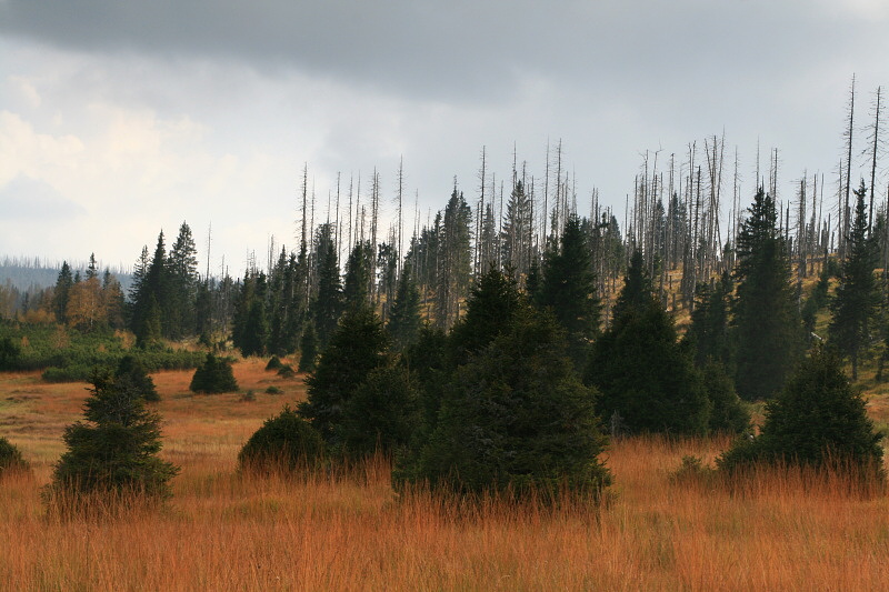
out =
[[(880, 93), (865, 168), (855, 100), (836, 182), (803, 172), (783, 199), (777, 150), (743, 189), (720, 137), (666, 164), (646, 153), (622, 217), (596, 191), (581, 205), (561, 142), (542, 180), (518, 157), (498, 178), (482, 149), (472, 197), (455, 181), (426, 223), (401, 169), (393, 195), (376, 171), (369, 194), (338, 179), (320, 213), (307, 165), (298, 248), (271, 240), (237, 278), (199, 269), (182, 222), (143, 247), (126, 292), (94, 254), (54, 285), (7, 284), (0, 370), (89, 385), (41, 503), (176, 496), (149, 374), (197, 369), (193, 393), (239, 392), (257, 365), (304, 382), (238, 444), (241, 478), (357, 479), (489, 518), (531, 500), (563, 519), (618, 503), (633, 480), (609, 451), (655, 442), (698, 452), (668, 468), (677, 486), (730, 496), (777, 468), (885, 499), (886, 423), (862, 390), (889, 380), (889, 189)], [(0, 479), (29, 464), (4, 435)]]

